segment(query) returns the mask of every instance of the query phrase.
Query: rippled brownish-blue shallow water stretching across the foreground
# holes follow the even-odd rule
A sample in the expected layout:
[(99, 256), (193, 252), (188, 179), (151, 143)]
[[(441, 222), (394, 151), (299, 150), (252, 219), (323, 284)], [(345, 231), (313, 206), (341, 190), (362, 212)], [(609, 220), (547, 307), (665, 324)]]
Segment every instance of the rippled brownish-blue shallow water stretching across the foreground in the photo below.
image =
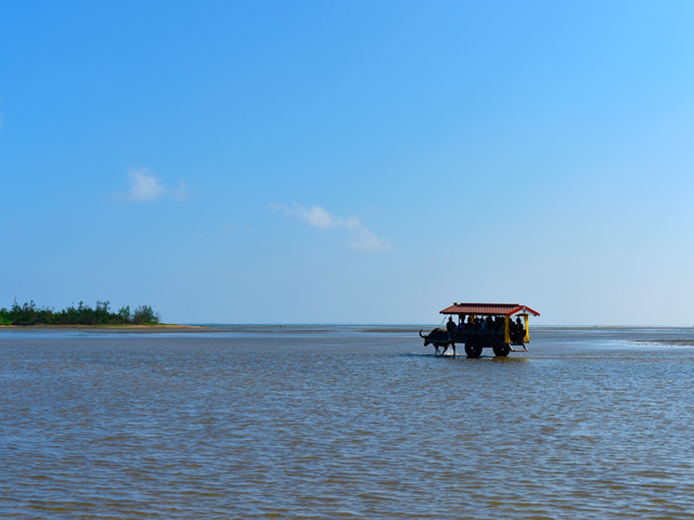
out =
[(694, 518), (694, 329), (0, 332), (2, 518)]

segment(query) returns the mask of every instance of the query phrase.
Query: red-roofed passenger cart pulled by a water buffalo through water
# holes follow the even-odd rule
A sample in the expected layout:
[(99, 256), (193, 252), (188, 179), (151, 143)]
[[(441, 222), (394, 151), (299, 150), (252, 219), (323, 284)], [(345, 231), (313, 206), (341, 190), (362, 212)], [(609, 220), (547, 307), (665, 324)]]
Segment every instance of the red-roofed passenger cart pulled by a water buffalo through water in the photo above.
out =
[[(424, 346), (449, 347), (455, 356), (455, 344), (465, 346), (467, 358), (479, 358), (483, 349), (492, 349), (494, 355), (506, 356), (511, 352), (527, 352), (530, 342), (528, 316), (540, 313), (517, 303), (453, 303), (440, 311), (449, 320), (444, 327), (437, 327), (424, 336)], [(455, 316), (455, 318), (453, 317)]]

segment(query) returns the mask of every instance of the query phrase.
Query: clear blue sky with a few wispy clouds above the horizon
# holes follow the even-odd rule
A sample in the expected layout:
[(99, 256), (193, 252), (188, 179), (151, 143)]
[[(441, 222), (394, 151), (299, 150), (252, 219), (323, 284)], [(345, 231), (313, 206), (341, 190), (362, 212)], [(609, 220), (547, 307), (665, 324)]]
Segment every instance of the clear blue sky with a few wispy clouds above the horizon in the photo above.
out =
[(4, 2), (0, 307), (694, 324), (691, 2)]

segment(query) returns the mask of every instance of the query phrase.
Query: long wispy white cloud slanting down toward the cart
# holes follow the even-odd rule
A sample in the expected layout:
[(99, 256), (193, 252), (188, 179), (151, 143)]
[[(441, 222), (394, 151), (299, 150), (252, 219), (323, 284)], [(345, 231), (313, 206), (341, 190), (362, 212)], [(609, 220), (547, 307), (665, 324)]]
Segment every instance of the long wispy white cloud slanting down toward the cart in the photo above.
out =
[(280, 211), (290, 217), (296, 217), (312, 227), (325, 230), (329, 227), (347, 230), (350, 236), (350, 247), (361, 249), (362, 251), (386, 251), (390, 249), (390, 243), (385, 238), (377, 237), (374, 233), (367, 230), (358, 217), (343, 219), (330, 213), (325, 208), (320, 206), (311, 206), (306, 208), (300, 204), (286, 206), (284, 204), (270, 203), (266, 209)]

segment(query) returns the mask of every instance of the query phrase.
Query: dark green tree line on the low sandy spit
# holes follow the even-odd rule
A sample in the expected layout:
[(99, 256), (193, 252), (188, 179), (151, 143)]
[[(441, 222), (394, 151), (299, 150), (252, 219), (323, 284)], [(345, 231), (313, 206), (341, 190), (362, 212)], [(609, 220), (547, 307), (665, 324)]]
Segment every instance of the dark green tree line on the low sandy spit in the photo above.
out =
[(82, 301), (55, 312), (52, 308), (37, 307), (34, 301), (20, 306), (16, 298), (12, 308), (0, 309), (0, 325), (152, 325), (159, 323), (159, 314), (150, 306), (140, 306), (130, 312), (130, 306), (111, 312), (111, 302), (97, 301), (92, 309)]

